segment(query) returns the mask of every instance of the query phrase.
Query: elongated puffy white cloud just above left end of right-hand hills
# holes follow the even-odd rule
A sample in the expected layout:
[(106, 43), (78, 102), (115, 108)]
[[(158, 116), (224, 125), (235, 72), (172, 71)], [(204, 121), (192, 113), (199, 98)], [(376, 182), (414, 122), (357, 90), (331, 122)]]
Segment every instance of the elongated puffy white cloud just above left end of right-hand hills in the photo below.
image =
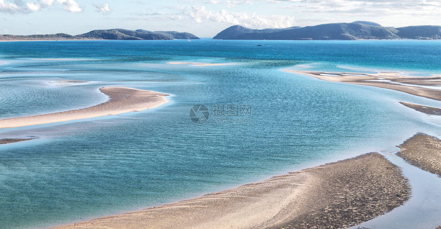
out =
[(193, 6), (190, 17), (196, 22), (206, 20), (222, 22), (230, 25), (243, 25), (257, 28), (286, 28), (295, 25), (294, 17), (287, 15), (257, 15), (245, 12), (209, 11), (204, 6)]

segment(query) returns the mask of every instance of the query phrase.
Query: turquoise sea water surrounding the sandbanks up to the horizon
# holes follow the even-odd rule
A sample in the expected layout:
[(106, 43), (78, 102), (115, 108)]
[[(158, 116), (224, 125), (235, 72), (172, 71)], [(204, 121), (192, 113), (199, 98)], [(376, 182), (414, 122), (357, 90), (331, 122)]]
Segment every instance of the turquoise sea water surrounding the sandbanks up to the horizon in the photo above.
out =
[[(393, 151), (418, 131), (441, 135), (438, 117), (398, 104), (439, 107), (437, 101), (283, 68), (439, 74), (441, 42), (0, 42), (0, 118), (94, 105), (106, 101), (102, 86), (171, 95), (170, 103), (142, 112), (1, 129), (0, 138), (41, 139), (0, 145), (0, 227), (48, 227), (138, 210), (364, 152)], [(244, 123), (211, 117), (194, 124), (189, 111), (195, 104), (211, 110), (251, 105), (251, 116)]]

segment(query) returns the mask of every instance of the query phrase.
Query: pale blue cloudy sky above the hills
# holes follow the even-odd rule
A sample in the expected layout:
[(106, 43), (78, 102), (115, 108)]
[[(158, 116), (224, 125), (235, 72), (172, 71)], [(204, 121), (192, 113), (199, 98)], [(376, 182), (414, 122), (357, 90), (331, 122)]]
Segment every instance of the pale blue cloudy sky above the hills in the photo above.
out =
[(441, 0), (0, 0), (0, 34), (77, 35), (96, 29), (190, 32), (213, 37), (253, 29), (355, 20), (441, 25)]

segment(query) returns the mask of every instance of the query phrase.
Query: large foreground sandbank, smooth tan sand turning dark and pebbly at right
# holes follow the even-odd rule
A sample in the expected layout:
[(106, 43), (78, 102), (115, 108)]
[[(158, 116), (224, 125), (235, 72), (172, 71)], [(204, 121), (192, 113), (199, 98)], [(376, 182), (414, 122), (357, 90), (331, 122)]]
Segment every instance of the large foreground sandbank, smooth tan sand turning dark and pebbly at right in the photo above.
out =
[(235, 189), (57, 228), (339, 228), (410, 196), (407, 179), (368, 153)]

